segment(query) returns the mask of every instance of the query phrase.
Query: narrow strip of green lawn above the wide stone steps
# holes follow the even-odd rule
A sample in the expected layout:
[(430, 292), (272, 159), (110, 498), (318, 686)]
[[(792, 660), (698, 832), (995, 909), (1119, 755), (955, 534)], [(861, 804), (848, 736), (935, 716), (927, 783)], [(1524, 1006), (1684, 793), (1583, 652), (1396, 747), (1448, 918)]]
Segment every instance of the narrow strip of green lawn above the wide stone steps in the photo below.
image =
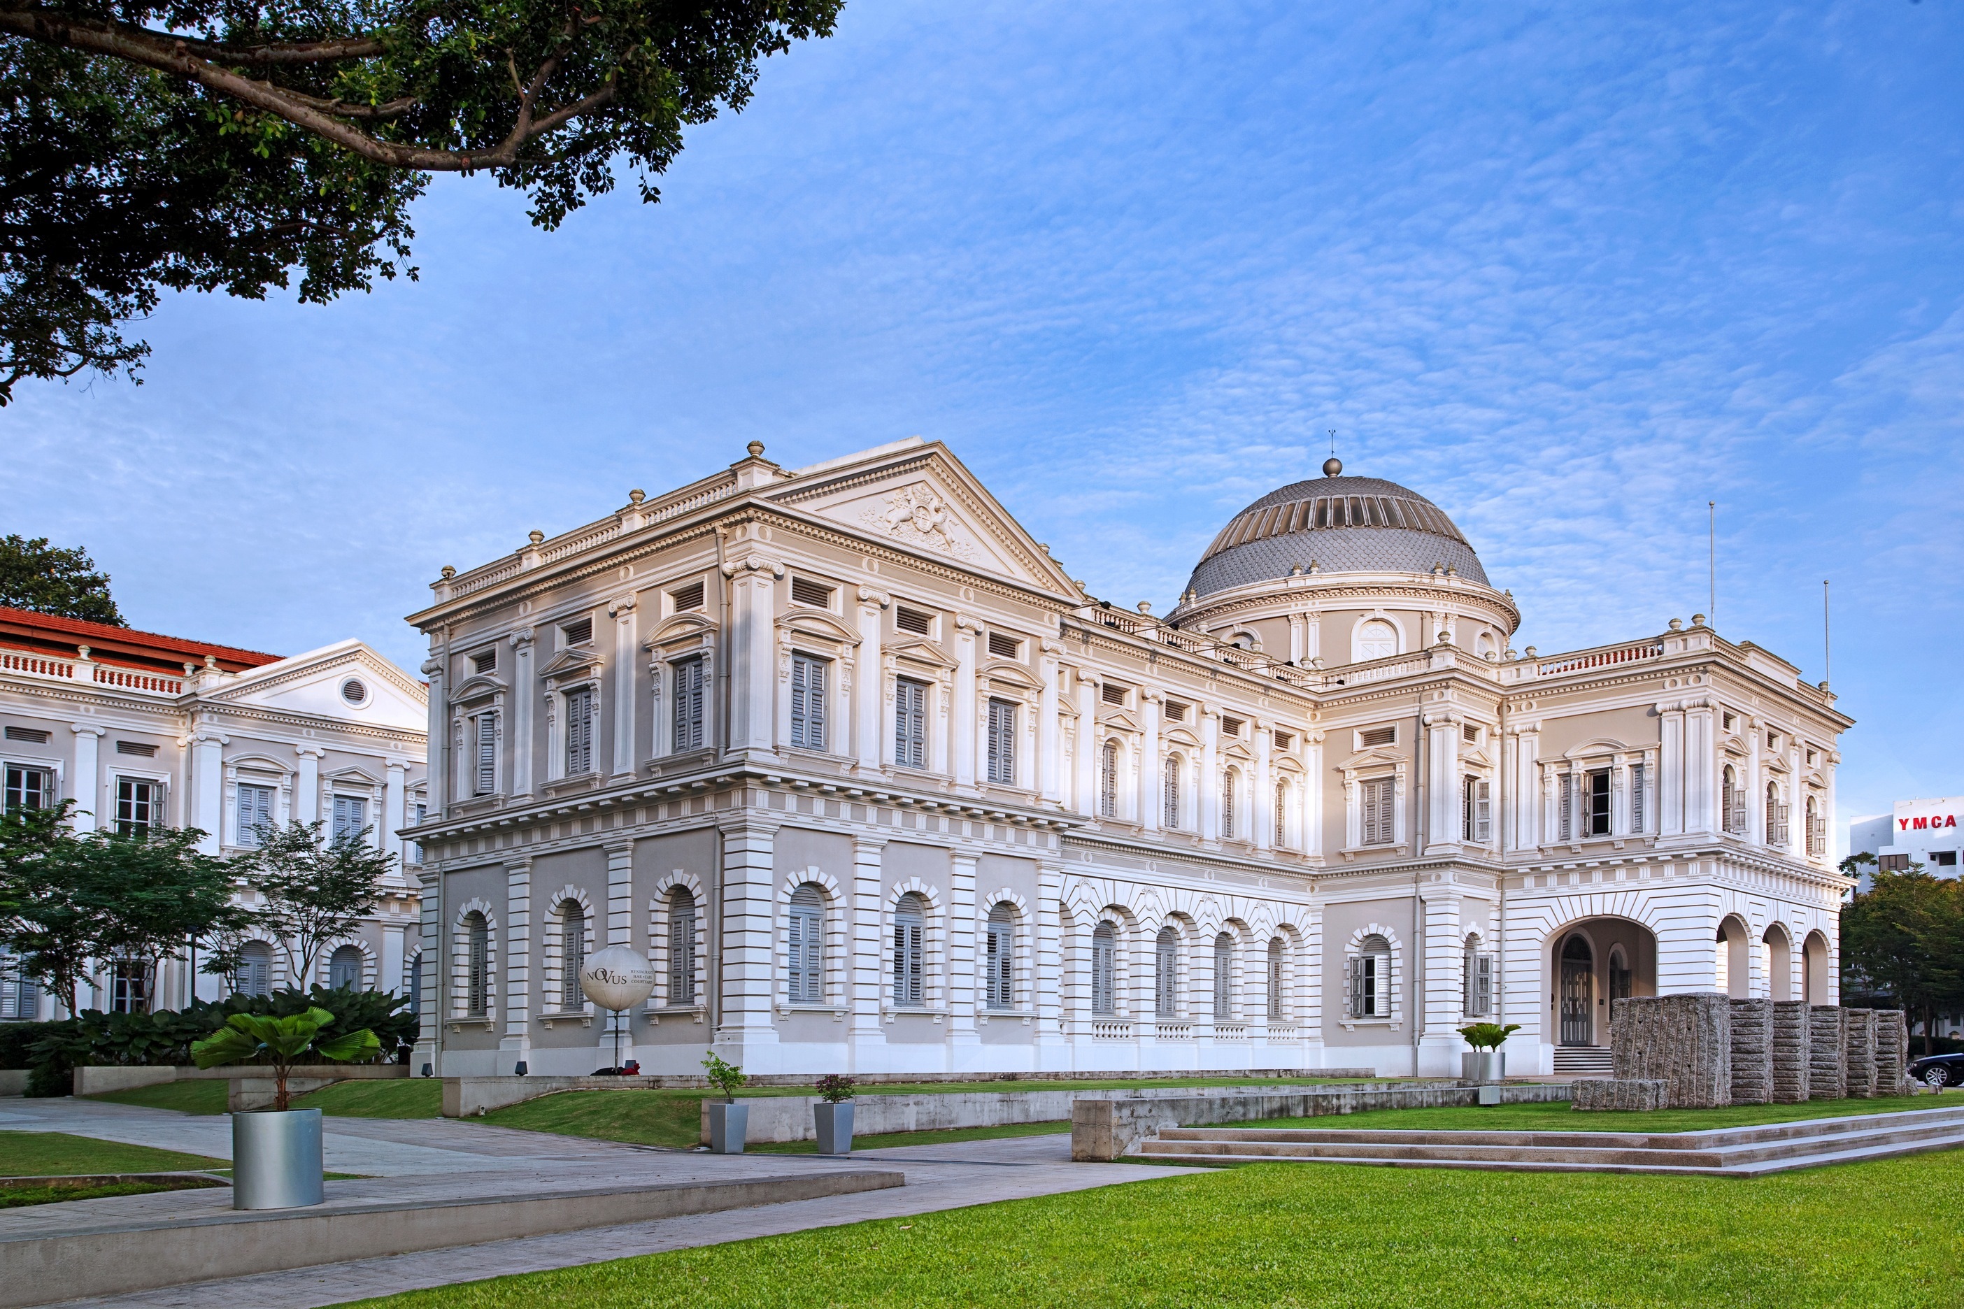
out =
[[(1950, 1097), (1952, 1107), (1960, 1097)], [(1308, 1126), (1387, 1132), (1705, 1132), (1754, 1123), (1795, 1123), (1799, 1119), (1840, 1119), (1858, 1113), (1905, 1113), (1937, 1109), (1937, 1097), (1813, 1099), (1805, 1105), (1730, 1105), (1726, 1109), (1654, 1109), (1650, 1113), (1581, 1113), (1554, 1105), (1477, 1105), (1453, 1109), (1369, 1109), (1365, 1113), (1318, 1115), (1314, 1119), (1263, 1119), (1222, 1126)]]

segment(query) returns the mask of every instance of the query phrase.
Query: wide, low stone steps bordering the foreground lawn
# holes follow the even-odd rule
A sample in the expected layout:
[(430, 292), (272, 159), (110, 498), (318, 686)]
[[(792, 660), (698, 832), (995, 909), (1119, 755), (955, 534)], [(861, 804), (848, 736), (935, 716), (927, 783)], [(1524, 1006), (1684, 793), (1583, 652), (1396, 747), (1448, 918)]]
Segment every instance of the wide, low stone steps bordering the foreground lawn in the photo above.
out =
[(1135, 1154), (1165, 1164), (1381, 1164), (1500, 1172), (1618, 1172), (1758, 1178), (1964, 1146), (1964, 1105), (1807, 1119), (1711, 1132), (1373, 1132), (1339, 1128), (1165, 1128)]

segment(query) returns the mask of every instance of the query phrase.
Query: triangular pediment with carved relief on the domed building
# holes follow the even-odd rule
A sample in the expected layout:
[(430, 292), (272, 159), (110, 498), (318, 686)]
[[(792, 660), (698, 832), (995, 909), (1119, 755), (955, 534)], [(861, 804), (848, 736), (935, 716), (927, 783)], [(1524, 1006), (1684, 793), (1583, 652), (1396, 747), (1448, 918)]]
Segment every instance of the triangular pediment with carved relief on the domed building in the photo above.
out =
[(898, 442), (799, 469), (770, 498), (858, 538), (1084, 599), (1063, 565), (941, 442)]

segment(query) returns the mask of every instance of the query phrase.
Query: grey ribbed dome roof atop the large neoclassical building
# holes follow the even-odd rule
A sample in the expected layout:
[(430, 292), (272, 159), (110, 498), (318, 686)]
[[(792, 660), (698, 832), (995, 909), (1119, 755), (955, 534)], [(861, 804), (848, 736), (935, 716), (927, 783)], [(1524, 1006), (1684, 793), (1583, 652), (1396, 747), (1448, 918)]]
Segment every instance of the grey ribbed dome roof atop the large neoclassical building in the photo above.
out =
[(1314, 477), (1261, 497), (1222, 528), (1186, 591), (1208, 597), (1290, 569), (1430, 573), (1446, 565), (1479, 585), (1487, 569), (1438, 504), (1377, 477)]

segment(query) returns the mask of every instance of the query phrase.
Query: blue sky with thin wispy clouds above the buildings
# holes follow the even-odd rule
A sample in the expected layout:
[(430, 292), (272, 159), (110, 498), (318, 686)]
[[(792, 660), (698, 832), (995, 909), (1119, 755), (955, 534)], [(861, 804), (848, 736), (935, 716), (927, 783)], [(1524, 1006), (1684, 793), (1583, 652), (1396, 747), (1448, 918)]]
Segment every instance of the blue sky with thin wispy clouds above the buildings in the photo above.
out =
[(1446, 506), (1542, 652), (1717, 626), (1821, 677), (1842, 816), (1964, 791), (1964, 14), (1876, 0), (850, 0), (558, 234), (489, 181), (422, 281), (179, 296), (145, 383), (0, 410), (0, 530), (136, 626), (299, 652), (736, 459), (949, 442), (1116, 602), (1314, 475)]

